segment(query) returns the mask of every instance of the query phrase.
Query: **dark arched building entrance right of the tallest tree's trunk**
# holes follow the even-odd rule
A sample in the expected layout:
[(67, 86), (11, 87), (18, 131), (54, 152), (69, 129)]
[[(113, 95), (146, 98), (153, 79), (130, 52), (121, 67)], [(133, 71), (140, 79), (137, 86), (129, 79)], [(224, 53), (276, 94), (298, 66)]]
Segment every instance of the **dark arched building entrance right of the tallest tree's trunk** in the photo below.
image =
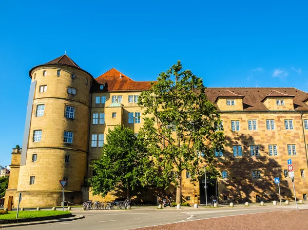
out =
[[(217, 189), (217, 179), (206, 179), (206, 195), (207, 195), (207, 204), (211, 205), (210, 197), (212, 195), (217, 197), (218, 202), (218, 189)], [(199, 181), (200, 187), (200, 203), (205, 204), (205, 180), (202, 178)]]

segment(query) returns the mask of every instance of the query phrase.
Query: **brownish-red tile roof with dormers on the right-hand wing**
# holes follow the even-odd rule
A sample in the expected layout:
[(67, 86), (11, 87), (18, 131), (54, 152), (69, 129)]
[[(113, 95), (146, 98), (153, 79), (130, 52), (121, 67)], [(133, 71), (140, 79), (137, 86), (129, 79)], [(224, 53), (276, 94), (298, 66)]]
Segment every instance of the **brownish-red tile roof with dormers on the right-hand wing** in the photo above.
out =
[[(262, 100), (266, 95), (272, 93), (272, 91), (280, 92), (286, 97), (293, 97), (295, 111), (308, 111), (308, 106), (303, 102), (308, 98), (308, 93), (298, 90), (296, 88), (207, 88), (205, 90), (207, 98), (215, 102), (217, 96), (224, 93), (226, 90), (238, 95), (243, 95), (243, 110), (244, 111), (268, 111), (262, 103)], [(276, 94), (276, 93), (275, 93)], [(272, 95), (275, 95), (274, 93)], [(278, 95), (278, 94), (277, 94)]]

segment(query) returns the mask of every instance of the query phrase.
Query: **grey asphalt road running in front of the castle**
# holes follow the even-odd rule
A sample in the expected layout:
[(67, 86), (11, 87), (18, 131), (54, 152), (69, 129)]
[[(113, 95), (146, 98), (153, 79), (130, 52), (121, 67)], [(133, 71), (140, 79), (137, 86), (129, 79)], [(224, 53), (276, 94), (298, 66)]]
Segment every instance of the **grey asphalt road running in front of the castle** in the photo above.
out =
[[(308, 205), (299, 205), (300, 209), (308, 209)], [(175, 208), (164, 208), (164, 210), (157, 210), (155, 208), (136, 208), (135, 210), (110, 210), (110, 211), (76, 211), (73, 214), (80, 214), (85, 216), (84, 219), (39, 224), (30, 226), (11, 227), (10, 229), (114, 229), (125, 230), (138, 227), (146, 227), (167, 223), (186, 222), (193, 220), (201, 220), (207, 218), (218, 218), (226, 216), (236, 216), (254, 213), (275, 212), (294, 210), (294, 205), (288, 206), (238, 206), (234, 208), (183, 208), (177, 210)]]

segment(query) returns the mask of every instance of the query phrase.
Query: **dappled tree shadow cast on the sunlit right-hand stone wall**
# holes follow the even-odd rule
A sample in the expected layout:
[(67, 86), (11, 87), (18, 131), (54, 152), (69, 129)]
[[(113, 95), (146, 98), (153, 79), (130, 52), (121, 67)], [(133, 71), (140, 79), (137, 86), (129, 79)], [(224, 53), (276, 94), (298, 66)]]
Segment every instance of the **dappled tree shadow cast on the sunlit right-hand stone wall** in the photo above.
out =
[[(234, 156), (234, 145), (242, 147), (242, 156)], [(259, 156), (251, 156), (251, 145), (258, 145)], [(275, 160), (279, 156), (269, 156), (268, 146), (256, 143), (250, 135), (235, 134), (225, 136), (225, 147), (231, 152), (225, 152), (225, 158), (216, 163), (221, 171), (227, 171), (227, 178), (219, 181), (219, 194), (227, 196), (235, 202), (260, 202), (279, 200), (278, 185), (274, 178), (280, 178), (281, 199), (294, 199), (288, 186), (290, 178), (284, 177), (281, 165)], [(274, 150), (273, 150), (274, 155)], [(260, 171), (261, 178), (253, 178), (253, 171)], [(259, 196), (260, 200), (257, 200)]]

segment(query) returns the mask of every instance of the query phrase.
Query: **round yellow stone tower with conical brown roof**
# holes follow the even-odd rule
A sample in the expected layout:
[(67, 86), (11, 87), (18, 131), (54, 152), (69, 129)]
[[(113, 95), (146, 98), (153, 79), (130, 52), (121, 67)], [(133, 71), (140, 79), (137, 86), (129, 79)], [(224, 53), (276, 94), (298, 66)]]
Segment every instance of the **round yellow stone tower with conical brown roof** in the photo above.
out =
[(33, 67), (29, 76), (17, 186), (17, 193), (22, 193), (21, 207), (60, 205), (59, 180), (68, 180), (65, 201), (81, 204), (93, 77), (67, 55)]

